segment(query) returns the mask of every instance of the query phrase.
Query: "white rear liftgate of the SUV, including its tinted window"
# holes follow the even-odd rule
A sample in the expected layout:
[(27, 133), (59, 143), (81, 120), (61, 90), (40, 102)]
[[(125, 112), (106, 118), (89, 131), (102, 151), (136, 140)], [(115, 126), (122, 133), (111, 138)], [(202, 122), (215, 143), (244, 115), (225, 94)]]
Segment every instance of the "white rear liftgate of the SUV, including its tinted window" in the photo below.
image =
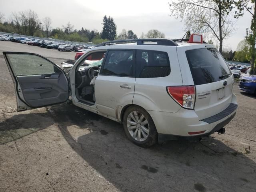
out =
[(187, 46), (177, 51), (183, 55), (184, 85), (196, 87), (194, 110), (199, 119), (214, 116), (228, 108), (234, 78), (218, 50), (210, 46)]

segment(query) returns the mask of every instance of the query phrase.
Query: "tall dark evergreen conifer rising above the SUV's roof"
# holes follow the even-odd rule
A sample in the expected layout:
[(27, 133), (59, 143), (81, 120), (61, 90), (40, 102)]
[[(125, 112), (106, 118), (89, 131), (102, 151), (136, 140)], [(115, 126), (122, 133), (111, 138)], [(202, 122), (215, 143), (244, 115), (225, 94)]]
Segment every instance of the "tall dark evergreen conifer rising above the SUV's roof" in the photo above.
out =
[(114, 40), (116, 38), (116, 24), (110, 16), (103, 17), (102, 39)]

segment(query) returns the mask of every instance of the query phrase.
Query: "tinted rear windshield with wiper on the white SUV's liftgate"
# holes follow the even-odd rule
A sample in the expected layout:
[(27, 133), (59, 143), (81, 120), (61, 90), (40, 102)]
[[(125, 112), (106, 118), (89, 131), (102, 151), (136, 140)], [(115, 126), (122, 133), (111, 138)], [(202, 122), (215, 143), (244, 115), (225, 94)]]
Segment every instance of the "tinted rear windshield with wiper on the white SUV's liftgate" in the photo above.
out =
[(216, 48), (186, 51), (195, 85), (216, 82), (231, 76), (230, 69)]

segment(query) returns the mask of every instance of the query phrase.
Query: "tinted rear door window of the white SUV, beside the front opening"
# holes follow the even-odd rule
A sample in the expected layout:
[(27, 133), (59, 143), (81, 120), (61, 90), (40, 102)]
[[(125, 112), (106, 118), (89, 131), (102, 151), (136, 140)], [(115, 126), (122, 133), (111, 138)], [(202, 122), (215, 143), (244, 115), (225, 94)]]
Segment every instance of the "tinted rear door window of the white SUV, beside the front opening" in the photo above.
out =
[(103, 66), (102, 75), (133, 76), (134, 51), (110, 50)]

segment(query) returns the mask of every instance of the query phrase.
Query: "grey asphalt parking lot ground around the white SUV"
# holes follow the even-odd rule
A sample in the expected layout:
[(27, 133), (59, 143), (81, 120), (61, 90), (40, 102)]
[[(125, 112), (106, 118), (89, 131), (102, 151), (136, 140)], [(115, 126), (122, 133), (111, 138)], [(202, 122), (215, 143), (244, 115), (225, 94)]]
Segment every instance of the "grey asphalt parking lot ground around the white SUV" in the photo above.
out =
[(121, 124), (72, 104), (16, 112), (3, 51), (32, 52), (56, 64), (75, 56), (0, 42), (1, 192), (255, 192), (256, 96), (240, 92), (237, 82), (239, 107), (225, 134), (140, 148)]

